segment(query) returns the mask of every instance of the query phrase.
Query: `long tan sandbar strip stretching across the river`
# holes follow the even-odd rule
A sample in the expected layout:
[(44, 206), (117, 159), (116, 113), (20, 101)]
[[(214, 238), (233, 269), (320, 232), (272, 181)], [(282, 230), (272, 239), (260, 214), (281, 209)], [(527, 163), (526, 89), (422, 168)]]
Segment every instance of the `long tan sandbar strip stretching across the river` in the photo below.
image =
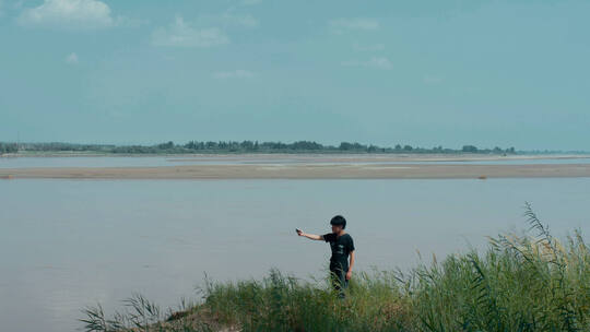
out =
[(0, 168), (1, 179), (488, 179), (590, 177), (590, 164), (186, 165)]

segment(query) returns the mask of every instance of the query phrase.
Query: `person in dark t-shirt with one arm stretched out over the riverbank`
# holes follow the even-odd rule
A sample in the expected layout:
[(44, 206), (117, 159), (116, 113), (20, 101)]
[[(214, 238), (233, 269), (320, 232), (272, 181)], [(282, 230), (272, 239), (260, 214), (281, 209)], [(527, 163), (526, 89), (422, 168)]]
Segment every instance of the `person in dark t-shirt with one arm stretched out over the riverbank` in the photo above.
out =
[[(324, 240), (330, 242), (332, 257), (330, 258), (330, 274), (332, 286), (339, 292), (341, 298), (344, 297), (344, 289), (349, 286), (354, 265), (354, 242), (352, 237), (344, 232), (346, 220), (342, 215), (337, 215), (330, 221), (332, 233), (324, 235), (306, 234), (297, 229), (298, 236), (305, 236), (312, 240)], [(349, 256), (351, 262), (349, 264)]]

